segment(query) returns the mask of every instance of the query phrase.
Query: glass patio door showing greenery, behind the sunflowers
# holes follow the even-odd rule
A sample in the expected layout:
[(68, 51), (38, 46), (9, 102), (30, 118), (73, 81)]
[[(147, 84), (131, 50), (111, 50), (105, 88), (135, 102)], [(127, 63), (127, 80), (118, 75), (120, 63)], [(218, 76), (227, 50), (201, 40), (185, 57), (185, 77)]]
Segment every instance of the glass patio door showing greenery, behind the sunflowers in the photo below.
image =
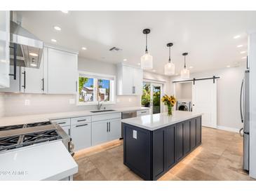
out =
[(150, 107), (151, 114), (160, 114), (162, 111), (162, 87), (160, 83), (143, 82), (141, 104), (143, 107)]

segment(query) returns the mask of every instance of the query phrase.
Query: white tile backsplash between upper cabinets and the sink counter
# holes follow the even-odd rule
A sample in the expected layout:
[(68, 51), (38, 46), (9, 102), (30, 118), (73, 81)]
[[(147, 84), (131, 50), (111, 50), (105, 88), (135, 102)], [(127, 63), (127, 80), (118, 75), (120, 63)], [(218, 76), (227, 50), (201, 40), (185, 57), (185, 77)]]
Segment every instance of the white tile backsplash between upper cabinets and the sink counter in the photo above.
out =
[[(103, 104), (103, 107), (107, 109), (139, 106), (140, 96), (116, 96), (116, 104)], [(77, 106), (76, 95), (23, 93), (2, 93), (0, 95), (0, 107), (0, 115), (2, 116), (21, 116), (97, 109), (96, 105)]]

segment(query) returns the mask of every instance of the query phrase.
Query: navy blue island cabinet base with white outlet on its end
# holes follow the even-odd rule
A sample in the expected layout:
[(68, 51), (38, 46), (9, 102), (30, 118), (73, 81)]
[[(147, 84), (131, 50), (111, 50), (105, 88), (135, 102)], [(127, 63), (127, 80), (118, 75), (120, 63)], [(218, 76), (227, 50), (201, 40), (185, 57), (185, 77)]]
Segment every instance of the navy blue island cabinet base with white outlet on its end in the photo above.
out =
[(123, 163), (156, 180), (201, 144), (201, 116), (156, 130), (123, 123)]

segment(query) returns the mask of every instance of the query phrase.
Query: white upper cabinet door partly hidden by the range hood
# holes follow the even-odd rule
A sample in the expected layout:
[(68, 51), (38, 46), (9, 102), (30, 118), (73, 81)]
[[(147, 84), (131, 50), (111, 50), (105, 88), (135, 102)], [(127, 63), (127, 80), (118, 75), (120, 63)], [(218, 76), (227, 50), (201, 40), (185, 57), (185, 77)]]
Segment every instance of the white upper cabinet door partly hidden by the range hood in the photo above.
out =
[(21, 92), (43, 93), (43, 63), (41, 62), (39, 69), (21, 67), (20, 84)]

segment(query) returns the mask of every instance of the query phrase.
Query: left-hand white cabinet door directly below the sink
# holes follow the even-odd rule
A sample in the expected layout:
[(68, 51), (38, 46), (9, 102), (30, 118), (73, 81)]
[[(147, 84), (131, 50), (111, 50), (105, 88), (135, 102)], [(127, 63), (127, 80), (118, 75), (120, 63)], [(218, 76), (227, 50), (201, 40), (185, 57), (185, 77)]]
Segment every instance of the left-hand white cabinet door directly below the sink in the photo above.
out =
[(92, 144), (107, 142), (107, 128), (109, 121), (96, 121), (92, 123)]

